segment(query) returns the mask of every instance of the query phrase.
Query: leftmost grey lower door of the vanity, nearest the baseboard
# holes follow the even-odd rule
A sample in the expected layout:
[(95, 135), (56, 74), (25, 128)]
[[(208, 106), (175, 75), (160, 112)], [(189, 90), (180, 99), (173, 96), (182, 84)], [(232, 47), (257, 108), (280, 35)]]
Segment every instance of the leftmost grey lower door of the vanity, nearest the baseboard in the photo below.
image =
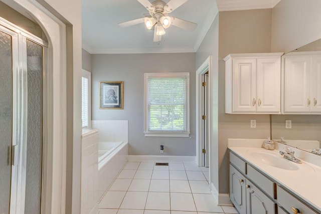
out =
[(246, 213), (245, 178), (230, 165), (230, 199), (240, 214)]

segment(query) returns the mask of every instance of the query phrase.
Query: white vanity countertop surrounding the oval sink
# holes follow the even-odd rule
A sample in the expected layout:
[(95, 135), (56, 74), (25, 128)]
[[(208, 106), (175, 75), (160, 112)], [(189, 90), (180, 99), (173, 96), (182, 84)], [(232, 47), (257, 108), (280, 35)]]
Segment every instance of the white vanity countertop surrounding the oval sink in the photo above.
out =
[(271, 151), (261, 148), (263, 141), (264, 139), (228, 139), (228, 148), (318, 212), (321, 212), (321, 157), (300, 149), (291, 148), (295, 152), (295, 157), (303, 162), (302, 164), (293, 162), (298, 167), (298, 170), (276, 168), (257, 161), (250, 155), (250, 151), (257, 150), (280, 155), (278, 153), (279, 150), (284, 151), (283, 147), (286, 145), (276, 143), (276, 150)]

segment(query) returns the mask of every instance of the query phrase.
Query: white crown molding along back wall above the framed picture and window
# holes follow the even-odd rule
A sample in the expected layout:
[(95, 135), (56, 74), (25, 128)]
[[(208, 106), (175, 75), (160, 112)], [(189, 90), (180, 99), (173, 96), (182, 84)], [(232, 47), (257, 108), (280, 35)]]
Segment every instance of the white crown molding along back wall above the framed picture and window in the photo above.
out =
[[(84, 48), (85, 49), (85, 48)], [(85, 49), (86, 50), (86, 49)], [(88, 51), (88, 50), (86, 50)], [(88, 51), (89, 52), (89, 51)], [(195, 53), (194, 47), (142, 48), (142, 49), (92, 49), (90, 54), (156, 54), (156, 53)]]

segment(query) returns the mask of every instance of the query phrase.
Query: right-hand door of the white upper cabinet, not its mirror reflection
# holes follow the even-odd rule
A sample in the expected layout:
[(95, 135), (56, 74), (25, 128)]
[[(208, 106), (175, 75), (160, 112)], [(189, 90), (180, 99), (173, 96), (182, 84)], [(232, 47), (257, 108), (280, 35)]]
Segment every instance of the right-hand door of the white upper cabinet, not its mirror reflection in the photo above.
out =
[(281, 58), (257, 60), (256, 112), (281, 111)]

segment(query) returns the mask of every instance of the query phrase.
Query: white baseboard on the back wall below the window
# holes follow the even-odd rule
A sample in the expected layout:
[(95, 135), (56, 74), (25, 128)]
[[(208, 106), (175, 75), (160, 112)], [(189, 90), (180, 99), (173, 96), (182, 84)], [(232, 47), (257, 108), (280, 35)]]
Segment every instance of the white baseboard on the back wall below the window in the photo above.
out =
[(196, 162), (196, 156), (174, 156), (174, 155), (128, 155), (128, 161), (174, 161), (174, 162)]

